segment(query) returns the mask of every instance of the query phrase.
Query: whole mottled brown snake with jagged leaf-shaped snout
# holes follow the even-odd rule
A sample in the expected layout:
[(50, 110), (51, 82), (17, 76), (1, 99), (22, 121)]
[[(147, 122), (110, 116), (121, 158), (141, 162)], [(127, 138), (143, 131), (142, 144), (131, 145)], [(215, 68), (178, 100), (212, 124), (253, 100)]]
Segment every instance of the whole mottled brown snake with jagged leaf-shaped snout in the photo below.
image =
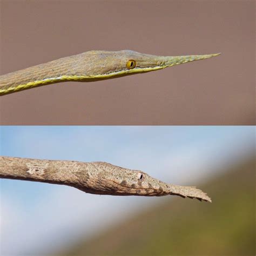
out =
[(104, 162), (0, 157), (0, 178), (68, 185), (86, 193), (112, 196), (167, 196), (210, 201), (196, 187), (164, 183), (149, 174)]

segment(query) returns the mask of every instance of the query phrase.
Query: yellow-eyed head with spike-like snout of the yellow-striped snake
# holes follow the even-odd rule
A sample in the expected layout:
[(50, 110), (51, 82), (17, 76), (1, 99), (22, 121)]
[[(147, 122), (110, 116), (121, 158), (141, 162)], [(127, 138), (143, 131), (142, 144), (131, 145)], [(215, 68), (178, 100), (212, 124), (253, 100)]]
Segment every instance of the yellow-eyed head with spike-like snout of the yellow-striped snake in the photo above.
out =
[(218, 56), (188, 55), (188, 56), (156, 56), (131, 50), (122, 51), (90, 51), (84, 53), (84, 60), (90, 63), (86, 76), (94, 79), (109, 79), (136, 73), (145, 73), (169, 66), (179, 65), (193, 60), (207, 59)]

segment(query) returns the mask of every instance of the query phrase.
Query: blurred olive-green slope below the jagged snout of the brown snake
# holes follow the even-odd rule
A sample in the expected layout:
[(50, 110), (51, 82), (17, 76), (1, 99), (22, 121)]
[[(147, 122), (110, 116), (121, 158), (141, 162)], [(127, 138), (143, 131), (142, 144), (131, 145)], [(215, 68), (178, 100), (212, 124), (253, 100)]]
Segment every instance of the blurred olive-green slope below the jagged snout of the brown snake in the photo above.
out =
[(255, 255), (255, 160), (199, 187), (212, 204), (166, 198), (59, 255)]

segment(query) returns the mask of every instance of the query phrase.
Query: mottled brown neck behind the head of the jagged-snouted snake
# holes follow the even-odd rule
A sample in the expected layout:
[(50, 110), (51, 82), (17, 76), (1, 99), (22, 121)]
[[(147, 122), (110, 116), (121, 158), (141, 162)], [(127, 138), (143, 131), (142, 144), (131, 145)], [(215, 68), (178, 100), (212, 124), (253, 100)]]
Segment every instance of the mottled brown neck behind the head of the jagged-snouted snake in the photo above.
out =
[(0, 157), (0, 178), (68, 185), (86, 193), (111, 194), (109, 181), (96, 163)]

